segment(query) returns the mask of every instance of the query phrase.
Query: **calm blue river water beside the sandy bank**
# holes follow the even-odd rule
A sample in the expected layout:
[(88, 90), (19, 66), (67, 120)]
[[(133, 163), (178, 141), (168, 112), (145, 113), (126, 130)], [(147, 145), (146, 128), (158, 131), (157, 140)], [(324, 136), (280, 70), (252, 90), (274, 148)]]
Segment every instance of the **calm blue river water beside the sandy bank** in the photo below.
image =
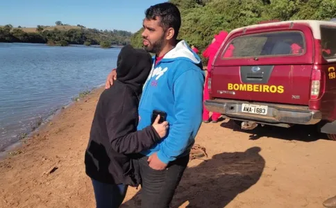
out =
[(0, 43), (0, 150), (79, 92), (102, 85), (119, 51)]

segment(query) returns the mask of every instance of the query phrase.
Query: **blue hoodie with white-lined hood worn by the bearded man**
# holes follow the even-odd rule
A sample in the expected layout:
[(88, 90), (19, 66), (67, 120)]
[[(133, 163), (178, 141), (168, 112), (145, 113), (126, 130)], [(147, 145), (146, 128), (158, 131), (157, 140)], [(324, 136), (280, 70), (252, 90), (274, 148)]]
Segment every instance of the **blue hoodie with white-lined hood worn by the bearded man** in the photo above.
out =
[(182, 40), (153, 67), (140, 99), (137, 130), (151, 125), (153, 110), (167, 112), (167, 136), (142, 152), (168, 164), (190, 153), (202, 121), (204, 72), (201, 59)]

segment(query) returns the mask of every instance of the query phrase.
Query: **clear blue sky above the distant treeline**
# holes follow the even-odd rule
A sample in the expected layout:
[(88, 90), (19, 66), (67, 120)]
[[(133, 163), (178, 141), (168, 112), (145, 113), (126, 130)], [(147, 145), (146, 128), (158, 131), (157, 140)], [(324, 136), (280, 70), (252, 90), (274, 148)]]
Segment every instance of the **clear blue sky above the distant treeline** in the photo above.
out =
[[(167, 0), (166, 0), (167, 1)], [(99, 30), (136, 32), (142, 27), (144, 11), (165, 0), (10, 0), (1, 1), (0, 25), (35, 27), (81, 24)]]

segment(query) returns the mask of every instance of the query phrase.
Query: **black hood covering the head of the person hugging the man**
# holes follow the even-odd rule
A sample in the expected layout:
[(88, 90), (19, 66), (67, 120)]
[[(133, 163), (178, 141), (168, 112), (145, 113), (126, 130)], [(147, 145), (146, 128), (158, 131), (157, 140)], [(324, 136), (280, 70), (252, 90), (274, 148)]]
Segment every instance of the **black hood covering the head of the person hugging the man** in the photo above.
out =
[(137, 94), (141, 94), (152, 63), (151, 55), (144, 49), (134, 49), (133, 46), (126, 45), (118, 55), (117, 80), (127, 84)]

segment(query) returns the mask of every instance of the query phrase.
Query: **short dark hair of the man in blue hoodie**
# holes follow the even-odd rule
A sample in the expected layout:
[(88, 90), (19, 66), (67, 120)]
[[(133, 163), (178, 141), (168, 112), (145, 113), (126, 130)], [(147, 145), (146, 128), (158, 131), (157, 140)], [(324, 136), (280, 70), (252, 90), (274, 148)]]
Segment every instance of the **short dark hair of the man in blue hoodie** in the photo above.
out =
[(160, 26), (163, 28), (163, 31), (167, 31), (168, 28), (174, 28), (174, 39), (178, 36), (178, 31), (180, 31), (180, 10), (174, 3), (158, 3), (146, 9), (144, 12), (146, 19), (154, 19), (160, 17)]

